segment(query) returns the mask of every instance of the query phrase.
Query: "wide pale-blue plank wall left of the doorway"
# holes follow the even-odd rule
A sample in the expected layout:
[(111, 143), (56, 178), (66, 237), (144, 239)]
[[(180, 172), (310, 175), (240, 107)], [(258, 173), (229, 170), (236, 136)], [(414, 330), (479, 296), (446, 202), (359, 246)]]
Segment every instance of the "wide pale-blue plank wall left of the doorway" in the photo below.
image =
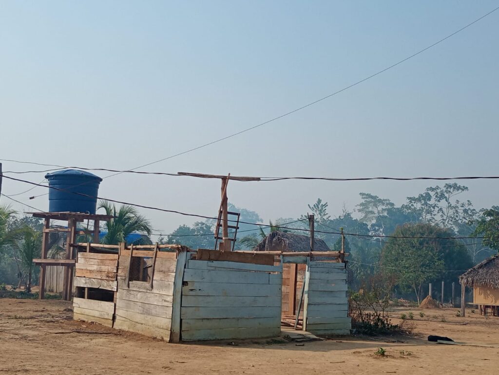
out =
[(188, 260), (182, 287), (182, 340), (278, 335), (281, 283), (281, 265)]

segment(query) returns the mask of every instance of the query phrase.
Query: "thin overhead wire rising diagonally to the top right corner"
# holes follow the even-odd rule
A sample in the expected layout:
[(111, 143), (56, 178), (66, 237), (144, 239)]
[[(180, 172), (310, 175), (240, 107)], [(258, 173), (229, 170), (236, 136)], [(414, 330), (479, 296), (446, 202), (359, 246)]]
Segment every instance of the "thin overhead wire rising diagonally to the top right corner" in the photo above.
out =
[[(402, 64), (402, 63), (404, 63), (404, 62), (406, 62), (406, 61), (408, 61), (408, 60), (410, 60), (410, 59), (412, 59), (413, 57), (418, 56), (419, 54), (421, 54), (421, 53), (423, 53), (423, 52), (425, 52), (425, 51), (427, 51), (427, 50), (429, 50), (429, 49), (431, 49), (431, 48), (435, 47), (436, 45), (438, 45), (438, 44), (440, 44), (440, 43), (444, 42), (445, 40), (447, 40), (447, 39), (449, 39), (449, 38), (453, 37), (454, 35), (458, 34), (459, 32), (461, 32), (461, 31), (463, 31), (463, 30), (467, 29), (468, 27), (472, 26), (473, 24), (475, 24), (475, 23), (479, 22), (480, 20), (482, 20), (482, 19), (484, 19), (485, 17), (487, 17), (488, 15), (490, 15), (490, 14), (494, 13), (494, 12), (495, 12), (495, 11), (497, 11), (498, 9), (499, 9), (499, 6), (498, 6), (498, 7), (496, 7), (496, 8), (494, 8), (494, 9), (492, 9), (491, 11), (489, 11), (489, 12), (485, 13), (484, 15), (480, 16), (479, 18), (475, 19), (474, 21), (472, 21), (472, 22), (468, 23), (467, 25), (465, 25), (465, 26), (461, 27), (460, 29), (458, 29), (458, 30), (454, 31), (453, 33), (451, 33), (451, 34), (449, 34), (449, 35), (445, 36), (444, 38), (439, 39), (439, 40), (438, 40), (438, 41), (436, 41), (435, 43), (433, 43), (433, 44), (431, 44), (431, 45), (429, 45), (429, 46), (427, 46), (427, 47), (425, 47), (425, 48), (423, 48), (423, 49), (421, 49), (421, 50), (419, 50), (419, 51), (417, 51), (417, 52), (413, 53), (412, 55), (410, 55), (410, 56), (408, 56), (408, 57), (406, 57), (406, 58), (404, 58), (404, 59), (402, 59), (402, 60), (400, 60), (400, 61), (398, 61), (398, 62), (396, 62), (396, 63), (394, 63), (394, 64), (392, 64), (392, 65), (390, 65), (390, 66), (388, 66), (388, 67), (386, 67), (386, 68), (384, 68), (384, 69), (381, 69), (381, 70), (377, 71), (377, 72), (376, 72), (376, 73), (374, 73), (374, 74), (371, 74), (370, 76), (367, 76), (367, 77), (365, 77), (365, 78), (363, 78), (363, 79), (361, 79), (361, 80), (359, 80), (359, 81), (357, 81), (357, 82), (355, 82), (355, 83), (352, 83), (352, 84), (350, 84), (350, 85), (348, 85), (348, 86), (346, 86), (346, 87), (344, 87), (344, 88), (342, 88), (342, 89), (340, 89), (340, 90), (338, 90), (338, 91), (335, 91), (335, 92), (333, 92), (333, 93), (331, 93), (331, 94), (329, 94), (329, 95), (326, 95), (326, 96), (324, 96), (324, 97), (322, 97), (322, 98), (316, 99), (316, 100), (314, 100), (313, 102), (307, 103), (307, 104), (305, 104), (305, 105), (303, 105), (303, 106), (301, 106), (301, 107), (295, 108), (294, 110), (291, 110), (291, 111), (286, 112), (286, 113), (284, 113), (284, 114), (282, 114), (282, 115), (276, 116), (276, 117), (274, 117), (274, 118), (272, 118), (272, 119), (270, 119), (270, 120), (264, 121), (264, 122), (262, 122), (262, 123), (260, 123), (260, 124), (250, 126), (250, 127), (246, 128), (246, 129), (243, 129), (243, 130), (240, 130), (240, 131), (238, 131), (238, 132), (232, 133), (232, 134), (230, 134), (230, 135), (224, 136), (224, 137), (222, 137), (222, 138), (219, 138), (219, 139), (213, 140), (213, 141), (211, 141), (211, 142), (204, 143), (204, 144), (199, 145), (199, 146), (197, 146), (197, 147), (193, 147), (193, 148), (187, 149), (187, 150), (185, 150), (185, 151), (182, 151), (182, 152), (179, 152), (179, 153), (176, 153), (176, 154), (173, 154), (173, 155), (170, 155), (170, 156), (164, 157), (164, 158), (162, 158), (162, 159), (155, 160), (155, 161), (152, 161), (152, 162), (149, 162), (149, 163), (146, 163), (146, 164), (142, 164), (142, 165), (140, 165), (140, 166), (138, 166), (138, 167), (135, 167), (135, 168), (132, 168), (132, 169), (130, 169), (130, 170), (132, 170), (132, 171), (133, 171), (133, 170), (135, 170), (135, 169), (140, 169), (140, 168), (143, 168), (143, 167), (147, 167), (147, 166), (149, 166), (149, 165), (156, 164), (156, 163), (159, 163), (159, 162), (162, 162), (162, 161), (165, 161), (165, 160), (168, 160), (168, 159), (174, 158), (174, 157), (176, 157), (176, 156), (180, 156), (180, 155), (184, 155), (184, 154), (186, 154), (186, 153), (192, 152), (192, 151), (196, 151), (196, 150), (198, 150), (198, 149), (200, 149), (200, 148), (207, 147), (207, 146), (209, 146), (209, 145), (212, 145), (212, 144), (215, 144), (215, 143), (221, 142), (221, 141), (223, 141), (223, 140), (226, 140), (226, 139), (232, 138), (232, 137), (234, 137), (234, 136), (237, 136), (237, 135), (243, 134), (243, 133), (245, 133), (245, 132), (247, 132), (247, 131), (250, 131), (250, 130), (256, 129), (256, 128), (260, 127), (260, 126), (263, 126), (263, 125), (266, 125), (266, 124), (272, 123), (272, 122), (274, 122), (274, 121), (276, 121), (276, 120), (279, 120), (279, 119), (282, 119), (282, 118), (284, 118), (284, 117), (286, 117), (286, 116), (292, 115), (292, 114), (294, 114), (294, 113), (296, 113), (296, 112), (298, 112), (298, 111), (301, 111), (301, 110), (303, 110), (303, 109), (305, 109), (305, 108), (307, 108), (307, 107), (313, 106), (314, 104), (317, 104), (317, 103), (322, 102), (322, 101), (324, 101), (324, 100), (326, 100), (326, 99), (329, 99), (329, 98), (331, 98), (331, 97), (333, 97), (333, 96), (335, 96), (335, 95), (337, 95), (337, 94), (339, 94), (339, 93), (341, 93), (341, 92), (343, 92), (343, 91), (346, 91), (346, 90), (348, 90), (348, 89), (350, 89), (350, 88), (352, 88), (352, 87), (355, 87), (355, 86), (357, 86), (357, 85), (359, 85), (359, 84), (361, 84), (361, 83), (363, 83), (363, 82), (365, 82), (365, 81), (367, 81), (367, 80), (369, 80), (369, 79), (371, 79), (371, 78), (374, 78), (374, 77), (376, 77), (376, 76), (378, 76), (378, 75), (380, 75), (380, 74), (382, 74), (382, 73), (386, 72), (387, 70), (390, 70), (390, 69), (392, 69), (392, 68), (395, 68), (396, 66), (398, 66), (398, 65), (400, 65), (400, 64)], [(61, 167), (60, 165), (55, 165), (55, 164), (42, 164), (42, 163), (30, 163), (30, 164), (37, 164), (37, 165), (44, 165), (44, 166), (56, 166), (56, 167)], [(104, 178), (108, 178), (108, 177), (116, 176), (116, 175), (121, 174), (121, 173), (124, 173), (124, 172), (122, 172), (122, 171), (118, 171), (117, 173), (112, 174), (112, 175), (109, 175), (109, 176), (106, 176), (106, 177), (104, 177)]]

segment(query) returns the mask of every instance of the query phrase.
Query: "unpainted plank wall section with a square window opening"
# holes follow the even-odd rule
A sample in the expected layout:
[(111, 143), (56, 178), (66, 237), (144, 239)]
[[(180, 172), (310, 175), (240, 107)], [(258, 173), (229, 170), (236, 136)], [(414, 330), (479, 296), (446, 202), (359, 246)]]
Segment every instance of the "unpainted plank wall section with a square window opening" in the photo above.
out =
[(170, 341), (177, 254), (157, 253), (152, 283), (148, 279), (130, 281), (127, 285), (129, 262), (130, 251), (122, 251), (118, 263), (114, 328)]

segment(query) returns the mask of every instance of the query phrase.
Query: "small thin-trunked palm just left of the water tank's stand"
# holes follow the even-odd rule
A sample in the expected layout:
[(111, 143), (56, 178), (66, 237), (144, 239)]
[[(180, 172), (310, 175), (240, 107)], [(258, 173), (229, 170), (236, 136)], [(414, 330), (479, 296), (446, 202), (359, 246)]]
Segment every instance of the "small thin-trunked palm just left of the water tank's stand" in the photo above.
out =
[(19, 265), (20, 279), (27, 276), (26, 292), (31, 292), (31, 278), (33, 273), (33, 259), (41, 255), (41, 232), (37, 232), (29, 227), (22, 228), (22, 232), (17, 241), (13, 243), (17, 250), (15, 260)]

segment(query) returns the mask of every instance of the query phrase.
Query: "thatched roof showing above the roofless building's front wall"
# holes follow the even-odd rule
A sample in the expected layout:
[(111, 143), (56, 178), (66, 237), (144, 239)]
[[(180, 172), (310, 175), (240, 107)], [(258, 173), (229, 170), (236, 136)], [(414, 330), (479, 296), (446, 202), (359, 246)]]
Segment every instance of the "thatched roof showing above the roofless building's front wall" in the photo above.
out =
[[(254, 251), (309, 251), (310, 237), (296, 235), (294, 233), (271, 232), (260, 241)], [(315, 239), (314, 251), (331, 251), (322, 240)]]

